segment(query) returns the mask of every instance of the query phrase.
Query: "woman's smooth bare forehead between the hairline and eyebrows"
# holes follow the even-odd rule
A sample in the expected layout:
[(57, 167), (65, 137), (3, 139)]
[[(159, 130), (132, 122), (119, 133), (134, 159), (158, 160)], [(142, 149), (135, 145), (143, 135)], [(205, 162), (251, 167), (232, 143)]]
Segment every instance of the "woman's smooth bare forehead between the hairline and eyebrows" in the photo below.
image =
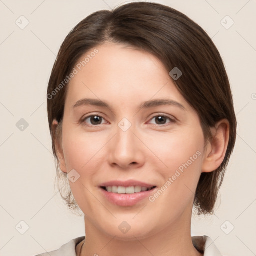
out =
[(123, 102), (167, 97), (185, 103), (163, 63), (144, 50), (105, 43), (83, 54), (75, 68), (67, 93), (72, 103), (82, 97)]

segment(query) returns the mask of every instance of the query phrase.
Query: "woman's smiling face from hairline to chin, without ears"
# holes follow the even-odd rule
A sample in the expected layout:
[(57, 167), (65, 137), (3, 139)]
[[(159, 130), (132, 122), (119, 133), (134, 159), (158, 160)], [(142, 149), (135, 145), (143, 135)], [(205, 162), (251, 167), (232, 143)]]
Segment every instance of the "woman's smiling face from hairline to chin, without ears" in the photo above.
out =
[(78, 61), (89, 54), (65, 101), (61, 169), (72, 171), (73, 196), (88, 221), (119, 239), (180, 228), (204, 159), (199, 117), (155, 56), (123, 44), (96, 48)]

